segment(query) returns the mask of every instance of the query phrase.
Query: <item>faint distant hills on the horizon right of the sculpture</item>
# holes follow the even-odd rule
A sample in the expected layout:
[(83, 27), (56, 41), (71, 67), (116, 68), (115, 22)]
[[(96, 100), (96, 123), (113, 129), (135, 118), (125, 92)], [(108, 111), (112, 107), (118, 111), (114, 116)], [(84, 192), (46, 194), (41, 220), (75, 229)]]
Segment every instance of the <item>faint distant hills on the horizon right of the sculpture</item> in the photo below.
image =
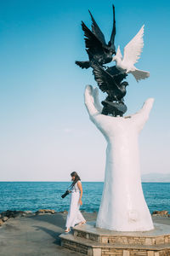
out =
[(148, 173), (142, 175), (145, 183), (170, 183), (170, 173)]

